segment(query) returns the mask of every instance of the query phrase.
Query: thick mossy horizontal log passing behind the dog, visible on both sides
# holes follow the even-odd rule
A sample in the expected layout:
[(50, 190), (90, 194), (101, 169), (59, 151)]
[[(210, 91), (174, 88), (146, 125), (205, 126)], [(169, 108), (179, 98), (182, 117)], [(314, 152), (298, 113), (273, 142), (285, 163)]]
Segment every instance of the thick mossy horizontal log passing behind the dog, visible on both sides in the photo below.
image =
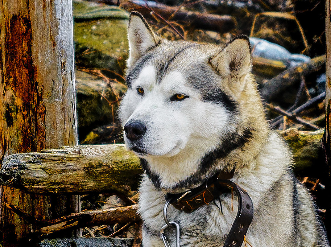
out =
[[(294, 171), (321, 177), (318, 169), (323, 130), (280, 132), (293, 150)], [(313, 169), (311, 169), (313, 167)], [(0, 184), (31, 193), (82, 194), (136, 189), (143, 170), (124, 144), (67, 146), (37, 153), (13, 154), (4, 159)]]

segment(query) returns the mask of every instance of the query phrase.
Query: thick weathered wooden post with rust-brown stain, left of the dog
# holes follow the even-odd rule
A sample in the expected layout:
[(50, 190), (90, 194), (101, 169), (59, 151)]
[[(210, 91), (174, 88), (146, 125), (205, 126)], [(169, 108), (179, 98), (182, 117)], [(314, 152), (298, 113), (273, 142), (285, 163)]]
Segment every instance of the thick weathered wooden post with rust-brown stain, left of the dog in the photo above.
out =
[[(0, 163), (13, 153), (76, 145), (71, 0), (0, 2)], [(10, 187), (0, 194), (0, 246), (24, 246), (33, 231), (6, 203), (38, 220), (79, 211), (78, 196)]]

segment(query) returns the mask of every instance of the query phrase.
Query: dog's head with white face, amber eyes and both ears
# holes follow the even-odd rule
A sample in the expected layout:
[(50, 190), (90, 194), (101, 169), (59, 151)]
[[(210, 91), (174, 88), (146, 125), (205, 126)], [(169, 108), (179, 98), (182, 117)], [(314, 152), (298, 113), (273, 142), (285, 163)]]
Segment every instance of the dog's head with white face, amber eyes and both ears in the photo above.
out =
[(133, 12), (128, 40), (128, 91), (119, 110), (128, 149), (153, 164), (185, 160), (194, 173), (207, 153), (226, 156), (245, 145), (252, 135), (241, 113), (251, 68), (246, 36), (224, 47), (168, 41)]

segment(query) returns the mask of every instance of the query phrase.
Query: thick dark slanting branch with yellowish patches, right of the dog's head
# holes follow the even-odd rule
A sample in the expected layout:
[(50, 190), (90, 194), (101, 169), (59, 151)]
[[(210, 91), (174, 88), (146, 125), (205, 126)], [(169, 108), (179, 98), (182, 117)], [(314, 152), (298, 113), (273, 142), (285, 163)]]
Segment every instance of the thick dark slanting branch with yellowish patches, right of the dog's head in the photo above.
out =
[(262, 99), (270, 101), (280, 92), (300, 81), (301, 76), (319, 71), (323, 66), (325, 66), (325, 55), (313, 58), (310, 62), (302, 63), (299, 66), (289, 68), (264, 83), (260, 90), (260, 95)]

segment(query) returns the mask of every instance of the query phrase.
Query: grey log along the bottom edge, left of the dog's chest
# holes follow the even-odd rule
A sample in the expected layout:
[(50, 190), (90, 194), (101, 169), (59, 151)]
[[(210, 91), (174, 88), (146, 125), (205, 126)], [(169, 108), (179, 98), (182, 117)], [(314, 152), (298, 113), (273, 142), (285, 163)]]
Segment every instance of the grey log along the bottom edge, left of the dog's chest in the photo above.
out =
[(45, 239), (36, 247), (131, 247), (133, 238), (58, 238)]

